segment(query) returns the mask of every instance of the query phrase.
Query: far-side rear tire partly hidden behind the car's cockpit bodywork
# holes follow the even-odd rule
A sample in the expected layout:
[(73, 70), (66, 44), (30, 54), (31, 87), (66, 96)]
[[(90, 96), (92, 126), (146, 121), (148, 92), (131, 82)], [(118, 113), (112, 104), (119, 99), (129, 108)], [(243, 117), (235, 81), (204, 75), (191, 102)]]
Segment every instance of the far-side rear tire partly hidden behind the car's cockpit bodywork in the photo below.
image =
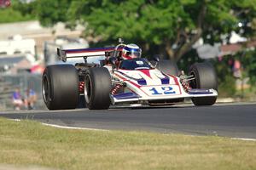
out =
[[(156, 61), (150, 61), (152, 65), (156, 64)], [(168, 75), (178, 76), (177, 64), (173, 60), (163, 59), (158, 62), (156, 68)]]

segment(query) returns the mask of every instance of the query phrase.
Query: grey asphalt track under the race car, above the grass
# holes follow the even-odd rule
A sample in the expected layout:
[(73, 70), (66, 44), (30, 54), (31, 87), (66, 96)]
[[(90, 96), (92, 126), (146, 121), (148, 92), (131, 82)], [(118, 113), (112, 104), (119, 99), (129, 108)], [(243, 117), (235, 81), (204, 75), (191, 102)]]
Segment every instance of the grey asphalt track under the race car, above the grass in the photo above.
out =
[(0, 116), (67, 127), (256, 139), (256, 104), (115, 107), (108, 111), (9, 111)]

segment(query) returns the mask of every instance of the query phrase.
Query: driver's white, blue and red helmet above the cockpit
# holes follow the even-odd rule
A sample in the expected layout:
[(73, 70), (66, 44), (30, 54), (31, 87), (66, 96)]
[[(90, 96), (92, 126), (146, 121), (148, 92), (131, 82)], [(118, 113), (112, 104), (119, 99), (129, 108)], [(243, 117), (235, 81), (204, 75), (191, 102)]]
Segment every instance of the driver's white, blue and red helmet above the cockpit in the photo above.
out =
[(122, 59), (135, 59), (140, 58), (142, 55), (142, 49), (136, 44), (130, 43), (125, 45), (122, 51)]

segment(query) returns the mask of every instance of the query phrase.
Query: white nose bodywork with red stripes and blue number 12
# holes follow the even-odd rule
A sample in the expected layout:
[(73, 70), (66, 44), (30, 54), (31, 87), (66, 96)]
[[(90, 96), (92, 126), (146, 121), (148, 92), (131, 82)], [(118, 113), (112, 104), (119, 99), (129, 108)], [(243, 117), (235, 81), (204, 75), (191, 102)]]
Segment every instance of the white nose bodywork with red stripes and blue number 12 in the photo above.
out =
[[(135, 71), (116, 70), (111, 72), (111, 74), (113, 79), (125, 82), (125, 91), (131, 91), (138, 96), (137, 98), (131, 99), (117, 99), (112, 95), (113, 104), (125, 101), (180, 99), (218, 95), (214, 89), (204, 89), (207, 93), (200, 91), (200, 93), (194, 92), (194, 94), (189, 94), (184, 91), (179, 77), (163, 74), (157, 69)], [(163, 83), (161, 79), (168, 81), (166, 81), (167, 83)], [(146, 84), (142, 85), (137, 80), (145, 80), (144, 82)]]

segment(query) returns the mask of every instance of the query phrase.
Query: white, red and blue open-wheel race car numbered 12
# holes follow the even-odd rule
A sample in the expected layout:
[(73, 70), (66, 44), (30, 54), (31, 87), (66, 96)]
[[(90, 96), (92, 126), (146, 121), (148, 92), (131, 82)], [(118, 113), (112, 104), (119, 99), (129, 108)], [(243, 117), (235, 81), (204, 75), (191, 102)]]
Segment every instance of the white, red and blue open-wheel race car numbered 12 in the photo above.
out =
[[(158, 56), (152, 60), (140, 56), (122, 59), (125, 49), (131, 48), (121, 41), (109, 48), (57, 48), (63, 62), (81, 57), (84, 63), (45, 68), (42, 94), (47, 108), (75, 109), (83, 99), (90, 110), (107, 110), (119, 104), (174, 105), (184, 99), (191, 99), (194, 105), (216, 102), (218, 81), (211, 64), (195, 63), (185, 75), (175, 62)], [(88, 62), (89, 58), (94, 61)]]

